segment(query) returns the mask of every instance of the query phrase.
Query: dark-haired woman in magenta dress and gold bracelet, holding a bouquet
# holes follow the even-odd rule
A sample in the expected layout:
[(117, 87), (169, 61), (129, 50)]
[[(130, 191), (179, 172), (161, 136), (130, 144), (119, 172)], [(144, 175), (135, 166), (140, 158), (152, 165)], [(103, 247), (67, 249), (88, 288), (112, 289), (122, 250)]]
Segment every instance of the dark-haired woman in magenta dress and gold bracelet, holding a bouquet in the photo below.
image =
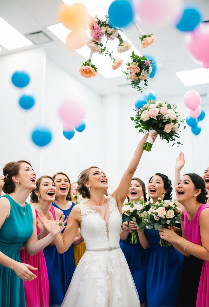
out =
[[(172, 228), (161, 228), (160, 237), (172, 243), (185, 256), (203, 260), (196, 306), (209, 307), (209, 206), (205, 204), (205, 182), (197, 174), (185, 174), (177, 187), (177, 200), (186, 209), (182, 223), (182, 237)], [(190, 267), (193, 270), (193, 267)], [(195, 279), (196, 276), (193, 276)]]

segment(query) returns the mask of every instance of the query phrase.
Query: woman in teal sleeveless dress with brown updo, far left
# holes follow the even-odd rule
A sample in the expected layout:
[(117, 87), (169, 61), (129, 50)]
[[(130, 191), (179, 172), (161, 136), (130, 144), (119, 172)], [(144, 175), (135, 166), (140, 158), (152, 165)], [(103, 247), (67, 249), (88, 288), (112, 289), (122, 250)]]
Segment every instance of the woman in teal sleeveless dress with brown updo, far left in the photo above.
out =
[(0, 198), (0, 306), (24, 307), (23, 281), (36, 278), (38, 268), (21, 263), (19, 250), (24, 244), (27, 252), (35, 255), (63, 227), (51, 218), (50, 234), (38, 241), (35, 209), (26, 203), (30, 191), (36, 188), (36, 173), (29, 162), (20, 160), (7, 163), (3, 174), (6, 195)]

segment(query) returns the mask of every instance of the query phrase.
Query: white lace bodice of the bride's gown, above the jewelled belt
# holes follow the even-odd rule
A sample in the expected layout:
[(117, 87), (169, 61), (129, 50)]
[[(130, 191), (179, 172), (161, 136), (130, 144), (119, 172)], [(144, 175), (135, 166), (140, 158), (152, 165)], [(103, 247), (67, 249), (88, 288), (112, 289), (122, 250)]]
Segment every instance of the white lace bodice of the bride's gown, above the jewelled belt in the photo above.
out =
[(107, 199), (107, 203), (100, 207), (88, 204), (76, 206), (81, 212), (81, 235), (87, 249), (119, 245), (122, 217), (113, 197)]

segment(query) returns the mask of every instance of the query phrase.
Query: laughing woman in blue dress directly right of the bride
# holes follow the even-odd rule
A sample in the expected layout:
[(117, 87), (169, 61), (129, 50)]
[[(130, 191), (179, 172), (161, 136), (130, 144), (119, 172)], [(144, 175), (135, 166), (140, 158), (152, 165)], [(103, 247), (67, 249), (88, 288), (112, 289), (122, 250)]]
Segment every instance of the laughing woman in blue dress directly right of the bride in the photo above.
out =
[[(129, 202), (132, 202), (133, 200), (142, 201), (142, 196), (144, 202), (146, 202), (145, 184), (141, 179), (134, 177), (131, 180), (127, 199)], [(146, 278), (150, 248), (144, 249), (139, 242), (136, 244), (130, 243), (131, 233), (134, 230), (137, 231), (138, 236), (141, 235), (139, 227), (137, 227), (133, 221), (130, 221), (129, 223), (123, 221), (120, 231), (120, 248), (126, 257), (126, 261), (139, 294), (141, 307), (143, 307), (146, 303)]]

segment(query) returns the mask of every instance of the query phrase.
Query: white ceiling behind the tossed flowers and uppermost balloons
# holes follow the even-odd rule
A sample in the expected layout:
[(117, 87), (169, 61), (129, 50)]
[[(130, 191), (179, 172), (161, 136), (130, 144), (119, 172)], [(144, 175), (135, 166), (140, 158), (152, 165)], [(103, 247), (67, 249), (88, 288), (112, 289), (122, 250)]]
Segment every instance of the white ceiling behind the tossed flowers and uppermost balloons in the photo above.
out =
[[(69, 0), (68, 2), (69, 4), (73, 4), (76, 1)], [(93, 14), (92, 11), (98, 11), (98, 15), (101, 14), (101, 12), (104, 12), (105, 15), (107, 14), (108, 5), (112, 1), (78, 0), (77, 2), (85, 3), (90, 14)], [(0, 16), (24, 35), (38, 31), (46, 33), (52, 41), (38, 46), (44, 46), (47, 57), (99, 94), (105, 95), (119, 92), (121, 94), (135, 93), (136, 90), (131, 88), (129, 82), (126, 80), (126, 76), (105, 79), (97, 73), (97, 76), (85, 79), (79, 75), (78, 68), (83, 62), (82, 56), (78, 55), (77, 52), (70, 52), (66, 48), (66, 45), (59, 41), (59, 39), (46, 28), (48, 25), (59, 22), (57, 19), (57, 12), (61, 3), (61, 0), (1, 0)], [(198, 4), (203, 11), (203, 20), (208, 21), (208, 0), (198, 0)], [(139, 26), (145, 33), (153, 33), (157, 38), (156, 42), (146, 49), (140, 49), (139, 33), (136, 31), (134, 25), (124, 28), (123, 30), (141, 53), (144, 51), (145, 54), (151, 54), (159, 61), (160, 68), (158, 69), (158, 73), (156, 73), (155, 78), (149, 79), (147, 89), (155, 91), (158, 96), (182, 95), (186, 91), (192, 89), (198, 91), (200, 95), (209, 93), (209, 84), (185, 87), (175, 75), (175, 72), (178, 71), (200, 68), (200, 66), (188, 56), (184, 44), (184, 33), (178, 31), (171, 23), (157, 29), (149, 28), (140, 23)], [(0, 30), (2, 31), (2, 29)], [(13, 52), (36, 48), (36, 46), (37, 45), (33, 45), (13, 50)], [(9, 53), (11, 53), (11, 51), (2, 47), (0, 56)], [(139, 96), (140, 95), (141, 92), (139, 92)]]

